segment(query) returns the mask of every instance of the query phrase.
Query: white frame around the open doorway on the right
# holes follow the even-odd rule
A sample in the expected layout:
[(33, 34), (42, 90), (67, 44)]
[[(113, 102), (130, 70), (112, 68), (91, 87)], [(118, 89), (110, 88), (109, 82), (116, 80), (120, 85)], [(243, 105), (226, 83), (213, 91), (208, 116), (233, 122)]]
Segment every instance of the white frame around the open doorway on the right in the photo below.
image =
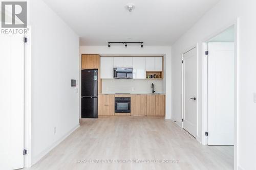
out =
[(205, 136), (205, 132), (207, 132), (207, 78), (208, 78), (208, 67), (207, 67), (207, 55), (205, 51), (207, 51), (207, 41), (211, 38), (217, 36), (222, 33), (229, 27), (234, 26), (234, 169), (237, 169), (237, 159), (238, 159), (238, 27), (239, 19), (229, 23), (224, 28), (218, 30), (212, 36), (207, 37), (202, 41), (202, 144), (207, 145), (207, 136)]

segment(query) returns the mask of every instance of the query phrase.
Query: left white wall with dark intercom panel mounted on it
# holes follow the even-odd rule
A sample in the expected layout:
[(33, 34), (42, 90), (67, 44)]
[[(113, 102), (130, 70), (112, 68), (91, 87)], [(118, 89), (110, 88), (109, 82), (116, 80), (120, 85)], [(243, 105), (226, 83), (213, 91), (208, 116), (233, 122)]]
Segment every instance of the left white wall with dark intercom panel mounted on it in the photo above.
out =
[(34, 164), (79, 126), (79, 37), (43, 1), (30, 1), (29, 12)]

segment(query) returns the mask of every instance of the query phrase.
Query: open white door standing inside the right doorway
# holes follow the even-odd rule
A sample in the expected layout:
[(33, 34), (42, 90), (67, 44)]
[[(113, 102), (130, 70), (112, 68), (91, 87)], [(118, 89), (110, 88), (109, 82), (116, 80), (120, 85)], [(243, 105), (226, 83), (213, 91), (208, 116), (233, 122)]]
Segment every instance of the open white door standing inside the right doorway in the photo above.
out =
[(234, 43), (208, 43), (207, 144), (233, 145)]

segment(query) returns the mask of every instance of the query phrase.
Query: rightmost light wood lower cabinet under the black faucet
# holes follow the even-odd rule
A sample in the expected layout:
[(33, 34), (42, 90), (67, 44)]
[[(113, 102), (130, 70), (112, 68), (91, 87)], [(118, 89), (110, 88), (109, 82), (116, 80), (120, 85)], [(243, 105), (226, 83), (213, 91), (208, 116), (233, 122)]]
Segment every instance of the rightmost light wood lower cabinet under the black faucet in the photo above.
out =
[(147, 116), (164, 116), (165, 115), (165, 95), (147, 95), (146, 100)]

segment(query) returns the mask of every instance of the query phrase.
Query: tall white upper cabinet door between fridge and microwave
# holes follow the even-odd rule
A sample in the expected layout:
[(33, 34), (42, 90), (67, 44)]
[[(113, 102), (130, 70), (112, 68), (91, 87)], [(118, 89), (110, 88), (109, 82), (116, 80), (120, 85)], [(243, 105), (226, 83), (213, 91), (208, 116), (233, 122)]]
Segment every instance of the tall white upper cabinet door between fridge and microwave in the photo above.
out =
[(113, 79), (114, 57), (100, 57), (100, 78)]

